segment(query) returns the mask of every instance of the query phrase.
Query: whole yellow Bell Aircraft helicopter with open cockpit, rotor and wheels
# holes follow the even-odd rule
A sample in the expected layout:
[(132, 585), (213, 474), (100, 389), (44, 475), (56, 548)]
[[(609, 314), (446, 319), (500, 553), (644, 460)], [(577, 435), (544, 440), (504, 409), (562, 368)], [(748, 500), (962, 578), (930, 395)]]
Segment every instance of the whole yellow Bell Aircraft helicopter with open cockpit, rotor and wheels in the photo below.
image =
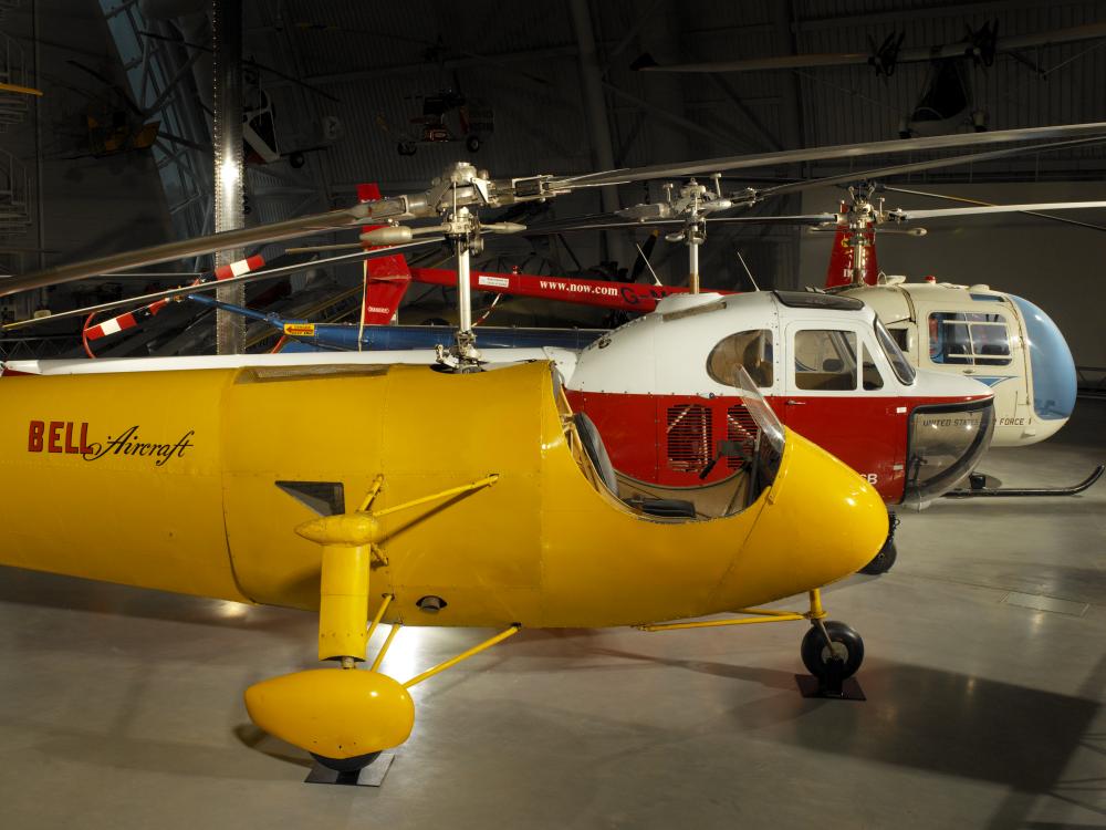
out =
[[(1104, 129), (1046, 127), (983, 141)], [(422, 366), (351, 365), (351, 355), (340, 353), (271, 355), (269, 366), (255, 355), (170, 359), (178, 362), (174, 372), (111, 371), (97, 361), (88, 362), (92, 373), (6, 371), (0, 380), (10, 404), (0, 413), (0, 440), (13, 475), (0, 484), (9, 540), (0, 562), (317, 608), (319, 656), (342, 667), (254, 684), (247, 707), (262, 728), (338, 769), (363, 767), (407, 738), (410, 686), (523, 625), (657, 631), (807, 620), (804, 665), (822, 681), (823, 694), (839, 696), (843, 678), (863, 658), (863, 643), (847, 626), (824, 621), (820, 589), (854, 572), (884, 543), (887, 513), (875, 488), (780, 424), (739, 365), (730, 388), (744, 407), (735, 413), (742, 432), (719, 447), (721, 458), (741, 457), (732, 474), (682, 488), (679, 501), (690, 510), (669, 498), (623, 494), (599, 433), (586, 414), (572, 412), (550, 361), (492, 371), (482, 365), (470, 307), (471, 256), (482, 248), (483, 234), (518, 228), (483, 225), (474, 211), (657, 176), (979, 141), (883, 142), (500, 180), (462, 163), (422, 193), (6, 280), (0, 295), (384, 220), (389, 225), (364, 241), (395, 246), (386, 256), (417, 245), (452, 246), (459, 325), (448, 352), (425, 352), (429, 365)], [(693, 229), (701, 217), (692, 212)], [(437, 224), (399, 224), (420, 218)], [(697, 243), (689, 250), (696, 262)], [(376, 256), (385, 255), (359, 251), (346, 261)], [(262, 276), (264, 269), (220, 284)], [(692, 276), (697, 290), (696, 269)], [(602, 351), (599, 343), (594, 347)], [(815, 374), (841, 369), (821, 349), (800, 357)], [(440, 442), (427, 444), (421, 414), (429, 405), (457, 413), (448, 453)], [(933, 448), (939, 459), (945, 450)], [(42, 492), (53, 499), (44, 501)], [(56, 520), (55, 502), (66, 506), (64, 522)], [(186, 507), (166, 512), (166, 505)], [(121, 538), (124, 519), (128, 532)], [(674, 557), (677, 550), (681, 556)], [(755, 608), (801, 592), (810, 598), (802, 613)], [(693, 619), (734, 610), (752, 616)], [(393, 622), (392, 634), (373, 668), (357, 671), (368, 634), (382, 621)], [(502, 632), (399, 683), (376, 670), (395, 626), (409, 622)]]

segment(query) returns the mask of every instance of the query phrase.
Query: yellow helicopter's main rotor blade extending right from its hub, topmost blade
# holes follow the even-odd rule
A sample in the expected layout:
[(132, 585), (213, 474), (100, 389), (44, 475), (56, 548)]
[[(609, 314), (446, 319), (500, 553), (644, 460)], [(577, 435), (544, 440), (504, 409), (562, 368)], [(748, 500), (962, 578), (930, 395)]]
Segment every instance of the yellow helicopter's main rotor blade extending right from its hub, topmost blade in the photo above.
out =
[(1078, 135), (1104, 135), (1106, 122), (1092, 124), (1066, 124), (1051, 127), (1026, 127), (1022, 129), (1001, 129), (993, 133), (960, 133), (957, 135), (938, 135), (921, 138), (896, 138), (885, 142), (868, 142), (826, 147), (807, 147), (802, 149), (785, 149), (774, 153), (758, 153), (754, 155), (723, 156), (702, 162), (684, 162), (676, 164), (658, 164), (648, 167), (626, 167), (618, 170), (589, 173), (582, 176), (566, 176), (554, 179), (553, 189), (571, 189), (574, 187), (602, 187), (619, 185), (628, 181), (645, 181), (653, 178), (676, 178), (698, 176), (706, 173), (722, 173), (726, 170), (748, 169), (752, 167), (771, 167), (801, 162), (818, 162), (834, 158), (858, 158), (878, 155), (880, 153), (908, 153), (911, 151), (950, 149), (953, 147), (974, 147), (983, 144), (1009, 144), (1012, 142), (1031, 142), (1043, 138), (1071, 138)]

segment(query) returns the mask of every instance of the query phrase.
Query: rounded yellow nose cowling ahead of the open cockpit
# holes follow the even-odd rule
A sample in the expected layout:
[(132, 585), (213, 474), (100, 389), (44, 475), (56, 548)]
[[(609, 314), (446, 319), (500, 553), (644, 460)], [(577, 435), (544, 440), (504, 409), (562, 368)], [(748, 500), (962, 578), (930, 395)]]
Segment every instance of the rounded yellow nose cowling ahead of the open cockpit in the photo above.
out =
[(734, 608), (855, 573), (887, 539), (887, 508), (875, 488), (790, 429), (786, 443), (764, 508), (720, 587)]

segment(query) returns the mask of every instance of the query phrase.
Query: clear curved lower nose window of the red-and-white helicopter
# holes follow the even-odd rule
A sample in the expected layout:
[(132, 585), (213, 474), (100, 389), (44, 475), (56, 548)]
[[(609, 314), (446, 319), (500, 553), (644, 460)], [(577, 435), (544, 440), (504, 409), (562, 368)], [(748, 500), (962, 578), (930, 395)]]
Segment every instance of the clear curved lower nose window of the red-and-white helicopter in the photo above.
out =
[(956, 487), (994, 429), (993, 401), (919, 406), (910, 415), (904, 500), (928, 501)]

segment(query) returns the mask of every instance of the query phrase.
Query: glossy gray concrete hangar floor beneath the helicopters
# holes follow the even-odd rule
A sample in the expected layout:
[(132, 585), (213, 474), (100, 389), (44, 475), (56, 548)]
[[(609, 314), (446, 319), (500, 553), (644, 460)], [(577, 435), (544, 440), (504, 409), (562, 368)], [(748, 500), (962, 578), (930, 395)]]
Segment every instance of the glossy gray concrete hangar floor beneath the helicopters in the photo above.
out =
[[(1104, 459), (1081, 401), (983, 468)], [(866, 703), (799, 696), (801, 623), (523, 632), (416, 689), (379, 789), (302, 784), (246, 716), (247, 685), (312, 665), (313, 615), (0, 569), (0, 827), (1106, 827), (1104, 542), (1106, 483), (905, 515), (895, 569), (826, 593)], [(385, 670), (482, 633), (404, 630)]]

